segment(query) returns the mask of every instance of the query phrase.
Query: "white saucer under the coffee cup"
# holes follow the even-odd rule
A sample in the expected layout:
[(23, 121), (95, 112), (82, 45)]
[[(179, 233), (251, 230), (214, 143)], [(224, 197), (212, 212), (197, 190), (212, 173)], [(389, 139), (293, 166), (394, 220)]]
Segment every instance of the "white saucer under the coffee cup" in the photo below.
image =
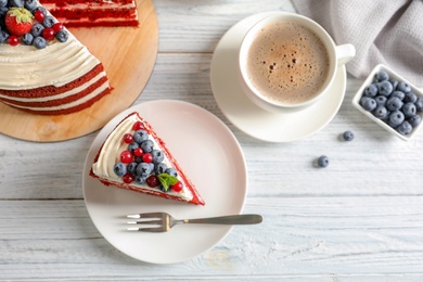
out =
[(271, 113), (245, 95), (238, 79), (238, 50), (246, 31), (268, 12), (248, 16), (232, 26), (220, 39), (211, 59), (210, 82), (223, 115), (248, 136), (268, 142), (291, 142), (309, 137), (328, 125), (344, 100), (347, 75), (339, 67), (330, 91), (312, 106), (295, 113)]

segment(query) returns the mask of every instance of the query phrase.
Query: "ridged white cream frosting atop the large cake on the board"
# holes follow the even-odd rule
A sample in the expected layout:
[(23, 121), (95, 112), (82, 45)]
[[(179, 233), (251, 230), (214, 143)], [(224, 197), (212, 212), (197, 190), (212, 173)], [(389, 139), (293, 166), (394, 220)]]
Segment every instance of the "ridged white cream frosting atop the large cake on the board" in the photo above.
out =
[(0, 89), (61, 87), (84, 76), (99, 63), (69, 31), (66, 42), (54, 39), (40, 50), (25, 44), (1, 44)]

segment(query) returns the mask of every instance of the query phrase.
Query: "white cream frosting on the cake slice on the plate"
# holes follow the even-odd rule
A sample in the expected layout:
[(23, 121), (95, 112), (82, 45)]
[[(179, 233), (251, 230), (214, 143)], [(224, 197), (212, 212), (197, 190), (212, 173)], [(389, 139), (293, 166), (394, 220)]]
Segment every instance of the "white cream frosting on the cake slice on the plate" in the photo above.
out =
[[(108, 179), (111, 181), (124, 183), (120, 177), (116, 176), (116, 174), (113, 170), (114, 165), (119, 162), (119, 155), (120, 152), (126, 150), (127, 145), (125, 142), (123, 142), (123, 137), (125, 133), (133, 132), (132, 126), (136, 121), (138, 121), (139, 118), (137, 115), (131, 115), (124, 119), (116, 128), (113, 130), (113, 132), (107, 137), (105, 140), (103, 148), (101, 149), (101, 152), (99, 154), (99, 158), (97, 163), (92, 165), (92, 171), (94, 175), (102, 179)], [(154, 149), (162, 150), (157, 142), (149, 136), (150, 140), (154, 143)], [(171, 164), (169, 159), (165, 155), (164, 162), (167, 167), (171, 167)], [(178, 176), (178, 179), (182, 181), (183, 188), (181, 192), (175, 192), (169, 191), (167, 194), (170, 195), (177, 195), (179, 197), (184, 198), (185, 201), (190, 201), (193, 198), (193, 195), (189, 189), (187, 189), (187, 183)], [(143, 188), (151, 191), (158, 191), (156, 188), (150, 188), (146, 184), (138, 184), (136, 182), (131, 183), (132, 187)]]

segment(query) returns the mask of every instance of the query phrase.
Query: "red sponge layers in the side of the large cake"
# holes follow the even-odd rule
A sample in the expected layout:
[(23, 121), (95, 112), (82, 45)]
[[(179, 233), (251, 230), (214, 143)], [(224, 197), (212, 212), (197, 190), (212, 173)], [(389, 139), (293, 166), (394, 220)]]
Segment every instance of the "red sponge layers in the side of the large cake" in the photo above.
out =
[[(1, 94), (5, 94), (11, 98), (11, 99), (0, 98), (0, 101), (2, 101), (8, 105), (17, 107), (20, 110), (42, 114), (42, 115), (60, 115), (60, 114), (74, 113), (92, 105), (95, 101), (100, 100), (102, 97), (111, 92), (111, 88), (108, 87), (108, 82), (107, 82), (107, 77), (103, 72), (104, 72), (103, 65), (99, 63), (94, 68), (92, 68), (85, 76), (79, 77), (78, 79), (68, 82), (62, 87), (46, 86), (46, 87), (39, 87), (35, 89), (17, 90), (17, 91), (0, 90)], [(97, 78), (97, 80), (91, 81), (94, 78)], [(88, 82), (90, 82), (90, 85), (88, 87), (84, 87), (84, 85)], [(95, 97), (81, 104), (78, 104), (76, 106), (70, 106), (67, 108), (62, 108), (62, 110), (54, 110), (54, 108), (47, 110), (48, 107), (61, 106), (61, 105), (65, 105), (81, 100), (85, 97), (92, 93), (93, 91), (95, 91), (97, 89), (99, 89), (100, 87), (102, 87), (104, 84), (107, 84), (107, 87), (104, 90), (100, 91)], [(78, 87), (81, 88), (78, 92), (64, 98), (59, 97)], [(54, 97), (59, 97), (59, 98), (54, 99)], [(27, 99), (28, 101), (14, 101), (13, 98)], [(34, 101), (34, 99), (37, 98), (49, 98), (49, 100)], [(31, 107), (31, 108), (26, 108), (26, 107)]]

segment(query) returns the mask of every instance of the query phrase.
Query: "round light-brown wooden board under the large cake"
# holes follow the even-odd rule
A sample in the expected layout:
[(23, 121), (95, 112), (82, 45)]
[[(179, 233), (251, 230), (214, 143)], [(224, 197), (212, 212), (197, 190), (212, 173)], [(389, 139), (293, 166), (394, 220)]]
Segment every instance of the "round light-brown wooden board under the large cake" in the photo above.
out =
[(89, 108), (57, 116), (25, 113), (0, 102), (0, 132), (27, 141), (69, 140), (93, 132), (129, 107), (144, 89), (157, 56), (152, 0), (138, 0), (140, 26), (69, 28), (104, 65), (113, 91)]

